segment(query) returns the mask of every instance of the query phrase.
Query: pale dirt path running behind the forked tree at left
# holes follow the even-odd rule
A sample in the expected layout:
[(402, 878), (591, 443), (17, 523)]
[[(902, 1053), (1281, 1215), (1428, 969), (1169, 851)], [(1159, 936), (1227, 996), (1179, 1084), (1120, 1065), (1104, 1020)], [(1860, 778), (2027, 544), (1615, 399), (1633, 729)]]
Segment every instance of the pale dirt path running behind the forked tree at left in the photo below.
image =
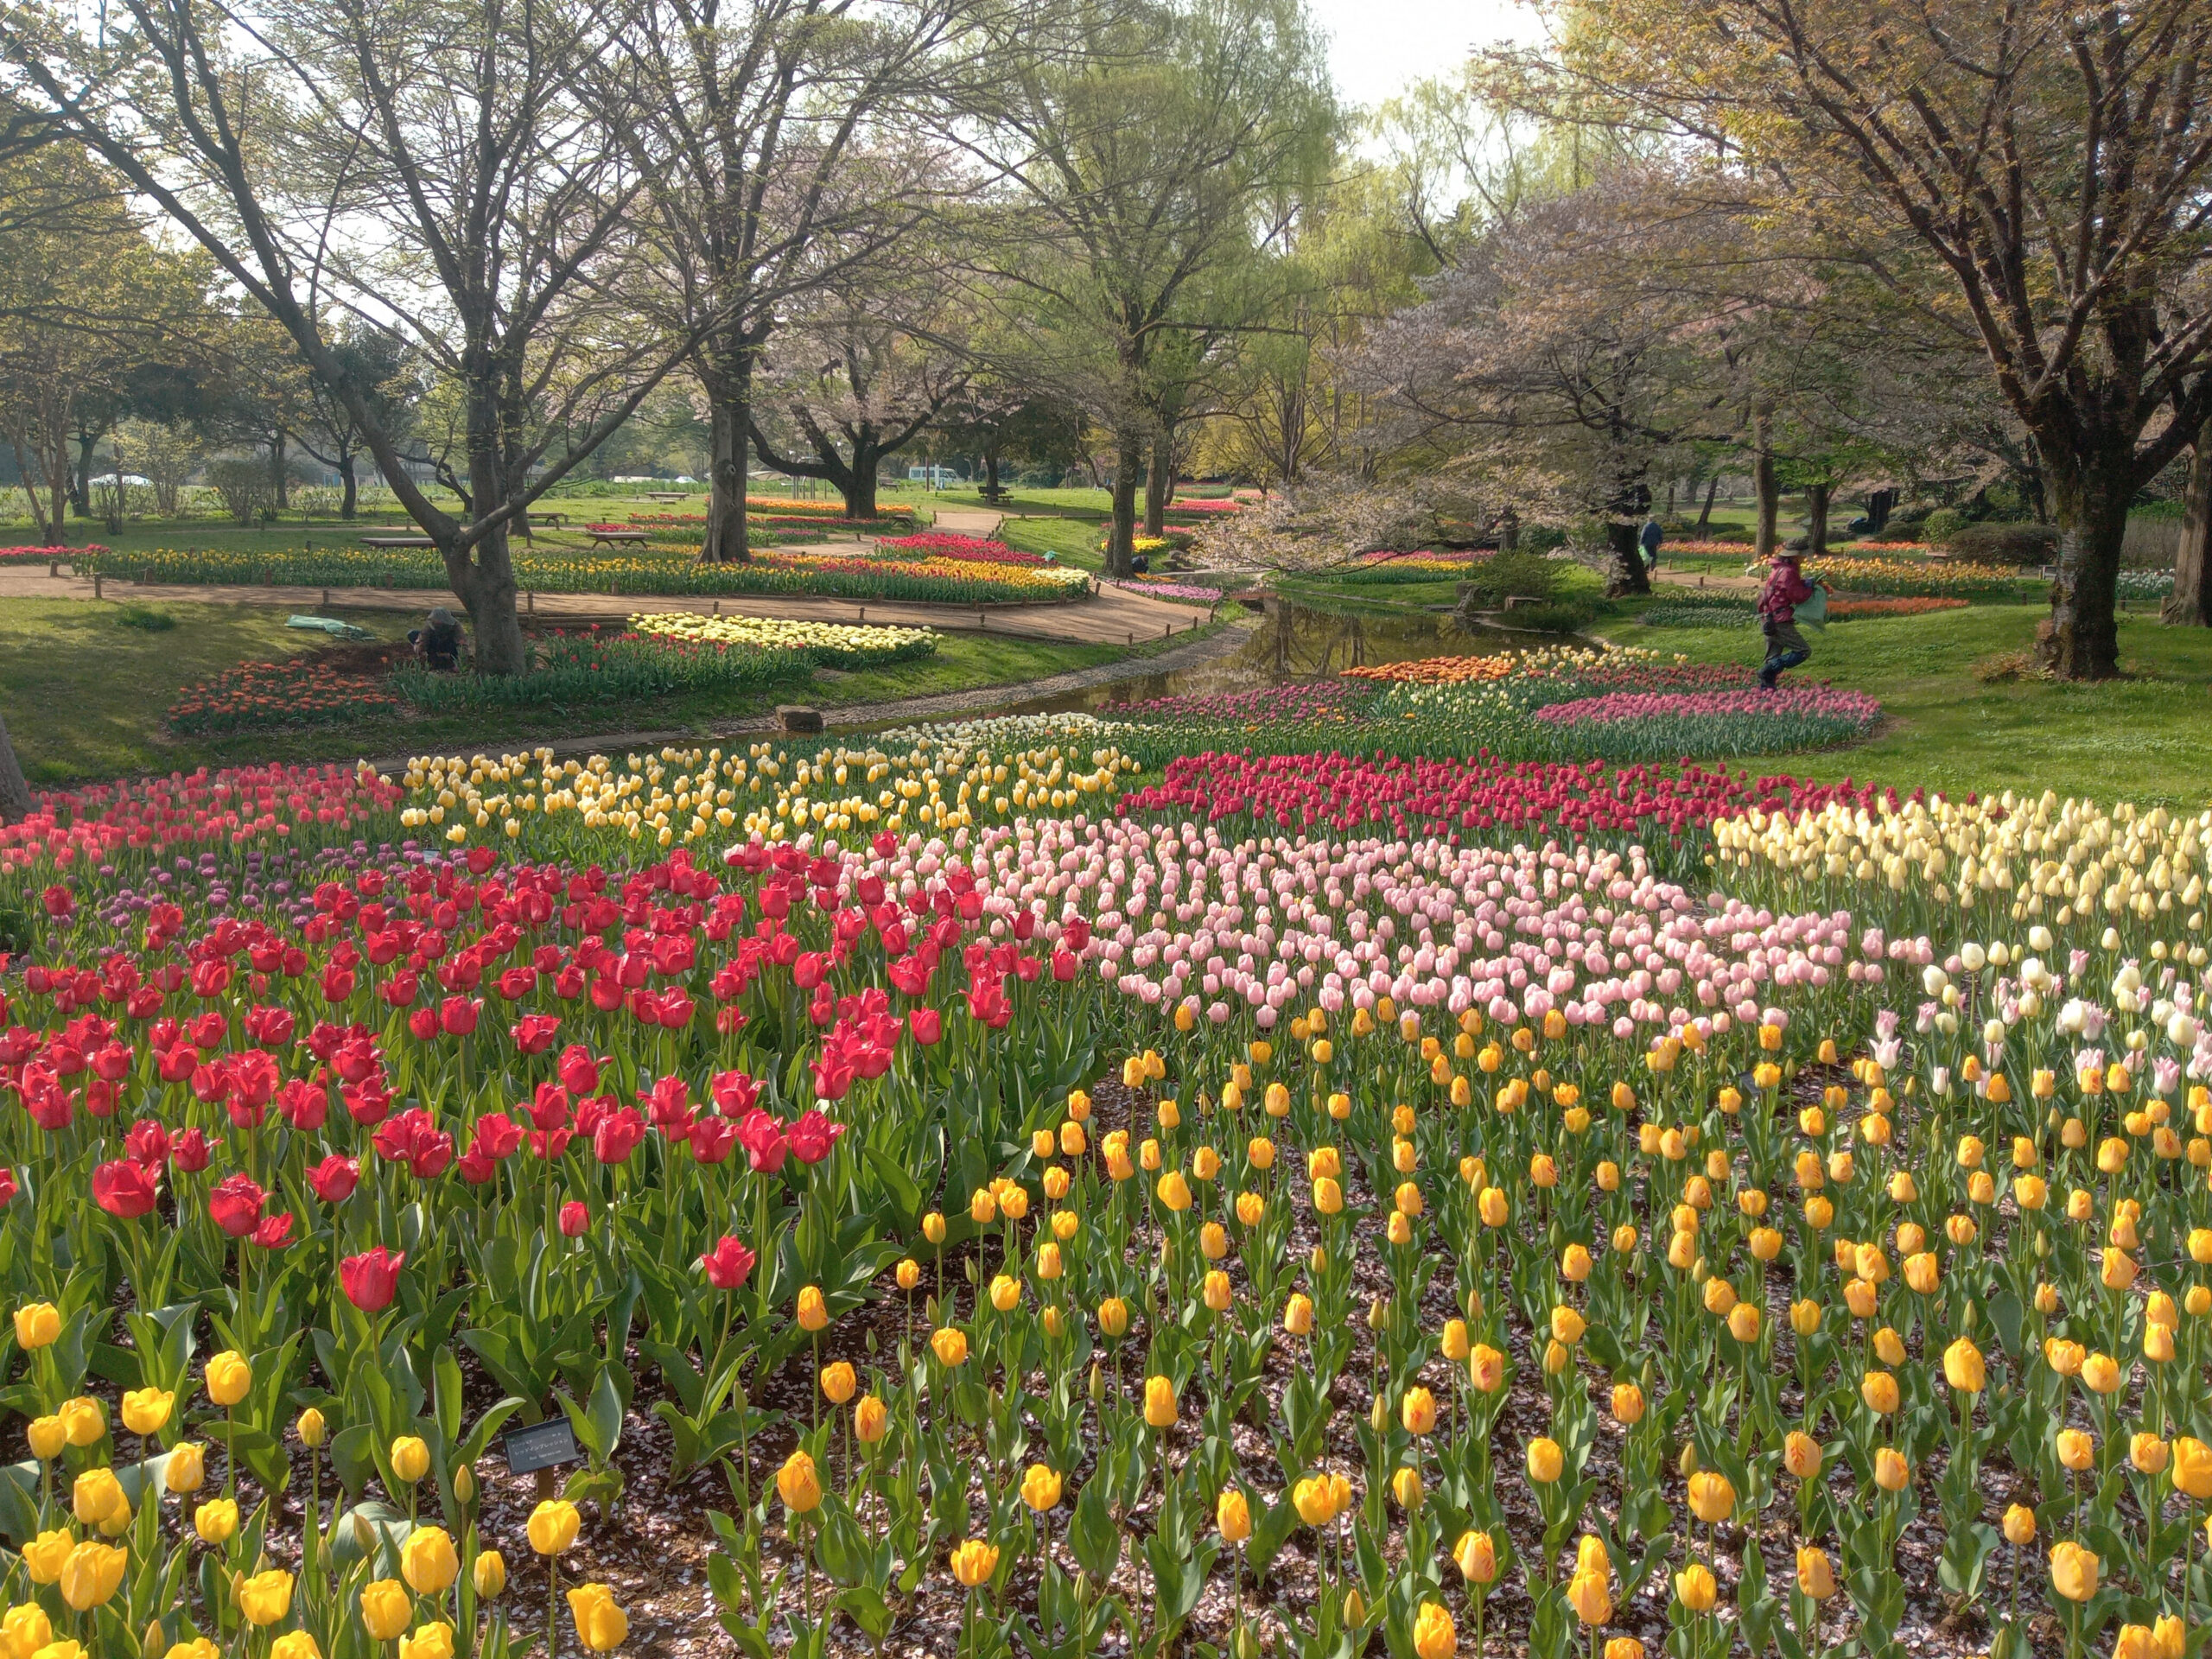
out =
[[(998, 515), (989, 515), (998, 522)], [(436, 604), (460, 606), (451, 593), (431, 588), (303, 588), (303, 586), (199, 586), (188, 582), (102, 582), (91, 577), (51, 577), (44, 568), (0, 571), (0, 599), (128, 599), (133, 604), (265, 604), (292, 611), (429, 611)], [(1086, 599), (1060, 604), (1004, 604), (989, 608), (920, 602), (816, 599), (812, 595), (739, 593), (726, 597), (681, 595), (613, 595), (613, 593), (533, 593), (524, 595), (529, 615), (562, 624), (622, 624), (637, 613), (688, 611), (730, 617), (792, 617), (805, 622), (883, 622), (900, 628), (942, 628), (947, 633), (987, 633), (1011, 639), (1053, 639), (1060, 644), (1128, 646), (1139, 639), (1166, 639), (1206, 622), (1206, 611), (1172, 599), (1155, 599), (1128, 588), (1108, 586)]]

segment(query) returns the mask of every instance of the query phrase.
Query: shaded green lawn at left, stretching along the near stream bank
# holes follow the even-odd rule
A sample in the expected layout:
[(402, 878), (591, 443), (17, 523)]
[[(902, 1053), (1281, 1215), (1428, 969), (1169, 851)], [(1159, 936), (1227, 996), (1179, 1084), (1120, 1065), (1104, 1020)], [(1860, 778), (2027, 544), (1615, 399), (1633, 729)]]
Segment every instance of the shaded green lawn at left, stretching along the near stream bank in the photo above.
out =
[[(765, 714), (776, 703), (843, 708), (900, 697), (1015, 686), (1073, 668), (1150, 657), (1170, 641), (1135, 648), (942, 637), (936, 655), (865, 672), (814, 670), (772, 690), (699, 692), (637, 703), (522, 708), (489, 714), (365, 719), (354, 726), (232, 732), (175, 739), (164, 714), (177, 695), (241, 661), (301, 655), (330, 639), (283, 626), (285, 611), (232, 604), (164, 604), (173, 626), (126, 626), (148, 606), (82, 599), (0, 599), (0, 714), (33, 785), (82, 783), (131, 772), (261, 761), (352, 761), (363, 754), (524, 745), (555, 737), (624, 730), (706, 730), (714, 721)], [(416, 613), (347, 613), (378, 639), (400, 639)], [(1179, 633), (1172, 644), (1190, 639)]]

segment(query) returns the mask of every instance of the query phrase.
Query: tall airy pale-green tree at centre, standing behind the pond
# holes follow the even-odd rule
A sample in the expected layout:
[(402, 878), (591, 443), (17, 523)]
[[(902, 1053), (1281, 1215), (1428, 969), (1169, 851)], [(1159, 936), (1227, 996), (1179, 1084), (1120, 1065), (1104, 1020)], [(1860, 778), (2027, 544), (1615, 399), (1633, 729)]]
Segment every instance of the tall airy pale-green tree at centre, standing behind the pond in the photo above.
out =
[(1188, 301), (1321, 170), (1336, 108), (1298, 0), (1071, 0), (1020, 22), (949, 137), (1004, 204), (980, 261), (1037, 330), (1029, 372), (1110, 434), (1106, 571), (1128, 575), (1155, 361), (1221, 325)]

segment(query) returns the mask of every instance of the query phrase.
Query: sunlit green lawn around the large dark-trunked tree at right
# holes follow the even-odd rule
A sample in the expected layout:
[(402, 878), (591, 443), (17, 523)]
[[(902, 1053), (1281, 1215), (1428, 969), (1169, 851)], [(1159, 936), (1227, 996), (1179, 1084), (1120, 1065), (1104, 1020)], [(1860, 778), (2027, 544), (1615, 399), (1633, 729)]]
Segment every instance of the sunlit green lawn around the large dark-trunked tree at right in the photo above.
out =
[[(1851, 776), (1964, 794), (2046, 787), (2099, 801), (2212, 801), (2212, 630), (2124, 615), (2124, 677), (2095, 686), (1982, 681), (1973, 668), (2028, 650), (2044, 606), (1971, 606), (1869, 617), (1807, 630), (1812, 661), (1790, 679), (1871, 692), (1889, 719), (1865, 743), (1827, 754), (1745, 761), (1752, 770)], [(1621, 646), (1694, 661), (1756, 661), (1752, 628), (1599, 624)]]

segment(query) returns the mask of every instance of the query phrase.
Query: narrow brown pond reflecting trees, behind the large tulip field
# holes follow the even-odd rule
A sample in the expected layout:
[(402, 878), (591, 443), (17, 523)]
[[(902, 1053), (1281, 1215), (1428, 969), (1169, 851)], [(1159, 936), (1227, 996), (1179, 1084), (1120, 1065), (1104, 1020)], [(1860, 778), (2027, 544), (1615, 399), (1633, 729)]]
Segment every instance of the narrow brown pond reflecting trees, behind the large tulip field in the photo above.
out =
[(1413, 661), (1444, 655), (1489, 655), (1524, 650), (1528, 635), (1480, 628), (1464, 633), (1449, 615), (1420, 611), (1318, 611), (1303, 604), (1267, 602), (1239, 650), (1190, 668), (1159, 675), (1133, 675), (1104, 686), (1091, 686), (1060, 697), (1037, 697), (1009, 703), (1000, 714), (1060, 714), (1097, 710), (1115, 703), (1148, 703), (1157, 697), (1206, 697), (1208, 692), (1283, 686), (1298, 679), (1323, 679), (1345, 668), (1385, 661)]

